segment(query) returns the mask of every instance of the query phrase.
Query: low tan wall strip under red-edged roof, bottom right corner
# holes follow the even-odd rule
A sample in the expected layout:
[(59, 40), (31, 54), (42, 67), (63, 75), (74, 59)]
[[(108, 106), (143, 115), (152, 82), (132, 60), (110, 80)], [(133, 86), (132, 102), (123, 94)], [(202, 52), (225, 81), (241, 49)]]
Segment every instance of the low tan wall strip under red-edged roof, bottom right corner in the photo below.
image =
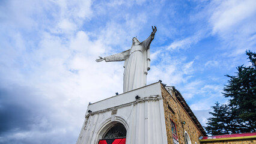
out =
[(221, 140), (212, 142), (201, 142), (201, 144), (255, 144), (256, 139)]

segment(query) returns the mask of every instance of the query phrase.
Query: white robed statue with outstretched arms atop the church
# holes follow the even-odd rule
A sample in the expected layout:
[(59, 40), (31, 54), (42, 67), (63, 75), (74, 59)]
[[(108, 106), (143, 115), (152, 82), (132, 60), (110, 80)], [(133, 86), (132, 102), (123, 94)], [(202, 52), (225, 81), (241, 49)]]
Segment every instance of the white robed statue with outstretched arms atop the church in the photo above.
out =
[(151, 35), (142, 42), (136, 37), (132, 38), (132, 47), (129, 50), (105, 58), (99, 56), (99, 59), (96, 59), (96, 62), (124, 61), (124, 92), (147, 84), (147, 74), (150, 70), (150, 44), (157, 31), (156, 26), (154, 28), (152, 26), (152, 29)]

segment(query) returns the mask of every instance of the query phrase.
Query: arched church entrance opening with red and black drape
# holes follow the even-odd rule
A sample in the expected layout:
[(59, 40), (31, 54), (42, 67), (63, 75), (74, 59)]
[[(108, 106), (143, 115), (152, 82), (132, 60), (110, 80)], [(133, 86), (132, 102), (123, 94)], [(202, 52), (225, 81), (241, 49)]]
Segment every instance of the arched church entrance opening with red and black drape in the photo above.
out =
[(103, 128), (102, 139), (99, 144), (124, 144), (126, 143), (127, 130), (120, 122), (111, 122)]

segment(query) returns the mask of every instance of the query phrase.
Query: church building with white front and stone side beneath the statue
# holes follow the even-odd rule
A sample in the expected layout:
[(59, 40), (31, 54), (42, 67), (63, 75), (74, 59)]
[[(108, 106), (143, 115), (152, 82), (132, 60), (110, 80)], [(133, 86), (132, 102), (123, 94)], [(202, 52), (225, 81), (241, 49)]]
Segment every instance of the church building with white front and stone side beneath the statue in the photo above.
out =
[[(249, 143), (256, 142), (255, 134), (246, 140)], [(163, 86), (157, 82), (89, 104), (76, 143), (216, 142), (221, 141), (207, 137), (180, 92), (172, 86)]]

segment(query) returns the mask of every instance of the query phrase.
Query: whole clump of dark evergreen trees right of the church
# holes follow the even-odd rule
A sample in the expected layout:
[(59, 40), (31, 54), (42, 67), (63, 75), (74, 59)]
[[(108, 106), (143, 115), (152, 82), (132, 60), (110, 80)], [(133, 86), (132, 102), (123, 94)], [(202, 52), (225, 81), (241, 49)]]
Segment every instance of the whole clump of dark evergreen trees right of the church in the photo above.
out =
[(211, 135), (256, 131), (256, 53), (246, 51), (251, 66), (237, 67), (236, 76), (230, 77), (224, 87), (228, 104), (213, 106), (213, 118), (209, 118), (206, 130)]

